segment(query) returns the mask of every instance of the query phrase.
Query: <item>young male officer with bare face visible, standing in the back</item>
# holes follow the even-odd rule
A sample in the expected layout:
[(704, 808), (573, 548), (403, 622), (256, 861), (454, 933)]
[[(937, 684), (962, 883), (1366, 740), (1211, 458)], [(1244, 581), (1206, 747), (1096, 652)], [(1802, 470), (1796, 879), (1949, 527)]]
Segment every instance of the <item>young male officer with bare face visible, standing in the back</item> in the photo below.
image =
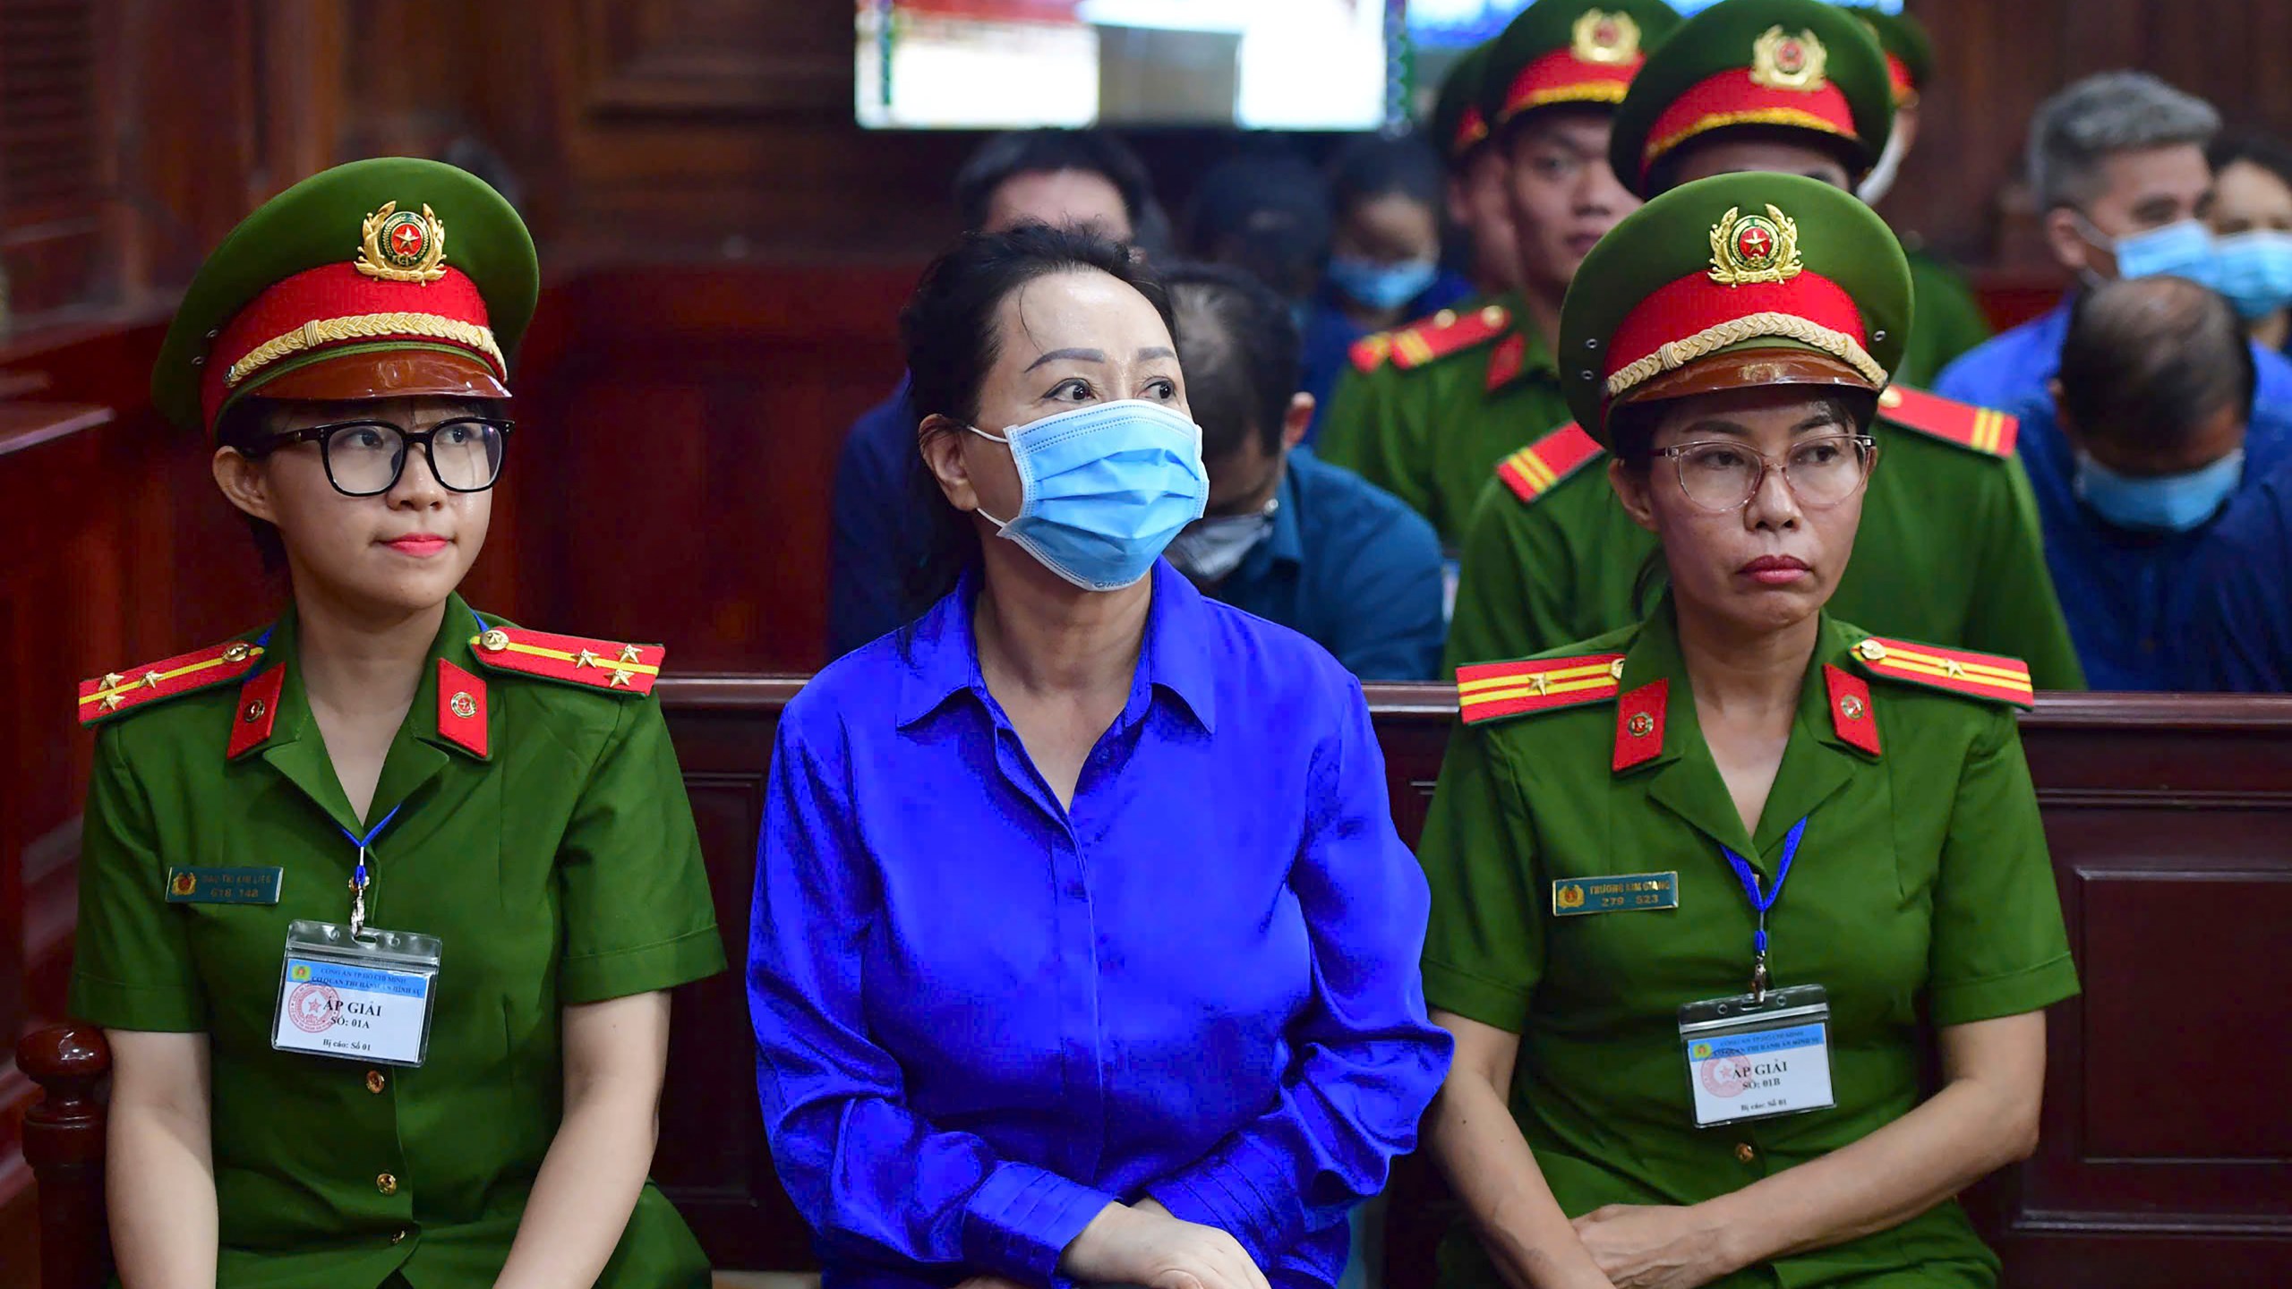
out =
[(1575, 266), (1639, 202), (1604, 165), (1614, 106), (1678, 14), (1536, 0), (1490, 44), (1481, 117), (1506, 170), (1520, 289), (1355, 346), (1316, 452), (1432, 521), (1446, 548), (1506, 452), (1568, 420), (1549, 335)]

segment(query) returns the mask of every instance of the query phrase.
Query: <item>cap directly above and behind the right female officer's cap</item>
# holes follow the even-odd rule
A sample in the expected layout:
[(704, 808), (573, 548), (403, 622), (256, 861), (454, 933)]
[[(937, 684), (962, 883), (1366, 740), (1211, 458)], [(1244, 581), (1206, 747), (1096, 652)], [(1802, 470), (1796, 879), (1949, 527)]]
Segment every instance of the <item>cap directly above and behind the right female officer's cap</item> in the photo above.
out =
[(1632, 193), (1680, 144), (1765, 126), (1831, 142), (1868, 170), (1886, 149), (1886, 55), (1863, 21), (1822, 0), (1721, 0), (1689, 18), (1632, 80), (1609, 163)]

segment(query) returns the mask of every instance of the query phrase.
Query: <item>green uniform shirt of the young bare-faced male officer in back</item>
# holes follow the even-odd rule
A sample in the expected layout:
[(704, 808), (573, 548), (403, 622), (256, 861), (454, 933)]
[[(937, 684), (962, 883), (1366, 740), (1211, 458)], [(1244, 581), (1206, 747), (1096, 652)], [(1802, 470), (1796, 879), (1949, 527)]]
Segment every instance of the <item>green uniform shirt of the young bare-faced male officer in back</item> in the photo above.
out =
[(1465, 544), (1471, 507), (1497, 461), (1568, 424), (1552, 346), (1517, 296), (1497, 303), (1508, 321), (1478, 344), (1421, 367), (1387, 358), (1371, 372), (1348, 369), (1313, 443), (1322, 461), (1361, 475), (1432, 521), (1446, 550)]

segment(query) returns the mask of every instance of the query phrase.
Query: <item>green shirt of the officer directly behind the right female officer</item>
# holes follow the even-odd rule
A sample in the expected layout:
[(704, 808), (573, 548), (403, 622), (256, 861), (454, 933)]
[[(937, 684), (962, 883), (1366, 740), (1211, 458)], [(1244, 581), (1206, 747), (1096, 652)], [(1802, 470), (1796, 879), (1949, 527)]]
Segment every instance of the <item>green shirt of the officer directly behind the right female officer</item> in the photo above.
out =
[[(2001, 459), (1882, 415), (1854, 560), (1831, 608), (1882, 635), (2005, 654), (2047, 690), (2081, 690), (2070, 624), (2044, 564), (2038, 500)], [(1662, 466), (1662, 461), (1657, 461)], [(1526, 658), (1639, 622), (1659, 560), (1595, 456), (1533, 502), (1490, 475), (1465, 541), (1449, 670)]]

